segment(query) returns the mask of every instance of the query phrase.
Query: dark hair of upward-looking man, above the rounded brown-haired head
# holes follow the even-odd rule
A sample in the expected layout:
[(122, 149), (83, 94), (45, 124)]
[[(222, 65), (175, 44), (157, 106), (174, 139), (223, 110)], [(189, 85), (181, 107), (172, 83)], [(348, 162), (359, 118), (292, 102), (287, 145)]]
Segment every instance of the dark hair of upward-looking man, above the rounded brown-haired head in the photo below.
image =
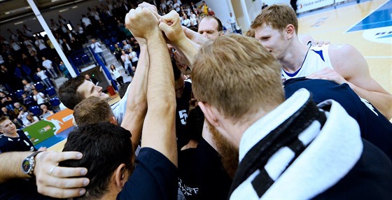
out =
[(71, 78), (66, 80), (60, 87), (59, 87), (59, 99), (62, 101), (66, 108), (73, 110), (73, 108), (83, 101), (85, 97), (82, 94), (76, 92), (78, 87), (85, 82), (85, 78), (83, 76), (78, 76), (76, 78)]

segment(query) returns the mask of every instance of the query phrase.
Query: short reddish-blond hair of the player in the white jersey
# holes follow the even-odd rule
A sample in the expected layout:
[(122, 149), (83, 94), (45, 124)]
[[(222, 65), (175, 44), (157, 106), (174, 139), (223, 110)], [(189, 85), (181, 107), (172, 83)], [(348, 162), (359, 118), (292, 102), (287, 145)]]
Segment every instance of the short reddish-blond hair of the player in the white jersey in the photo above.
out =
[(293, 8), (286, 4), (274, 4), (261, 11), (251, 24), (251, 29), (257, 29), (263, 25), (283, 31), (288, 24), (293, 24), (295, 33), (298, 34), (297, 14)]

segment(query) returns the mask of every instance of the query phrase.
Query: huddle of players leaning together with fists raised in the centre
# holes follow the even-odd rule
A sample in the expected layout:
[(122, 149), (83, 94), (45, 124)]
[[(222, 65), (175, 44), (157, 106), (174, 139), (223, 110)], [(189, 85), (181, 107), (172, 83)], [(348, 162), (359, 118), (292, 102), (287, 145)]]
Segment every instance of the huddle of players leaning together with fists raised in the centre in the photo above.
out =
[[(288, 18), (294, 22), (284, 24), (286, 21), (282, 20), (281, 28), (280, 22), (266, 20), (265, 15), (276, 12), (290, 13)], [(369, 83), (357, 83), (357, 78), (344, 74), (345, 71), (335, 64), (340, 58), (336, 57), (333, 45), (329, 47), (332, 50), (321, 47), (325, 50), (324, 57), (329, 54), (332, 69), (316, 69), (306, 76), (321, 79), (332, 74), (334, 76), (329, 79), (335, 83), (293, 78), (286, 80), (282, 88), (281, 78), (287, 79), (292, 70), (309, 68), (286, 62), (287, 59), (295, 60), (287, 58), (285, 53), (299, 42), (296, 17), (291, 8), (269, 6), (256, 17), (251, 28), (265, 48), (253, 38), (219, 36), (218, 31), (212, 33), (219, 36), (214, 41), (204, 42), (200, 34), (183, 31), (175, 12), (159, 17), (148, 3), (142, 3), (127, 14), (127, 26), (139, 37), (145, 51), (141, 52), (138, 71), (129, 91), (113, 106), (113, 111), (102, 100), (105, 99), (102, 88), (84, 80), (73, 84), (73, 80), (78, 79), (75, 78), (60, 88), (60, 96), (63, 93), (66, 98), (81, 101), (75, 107), (63, 101), (65, 106), (73, 108), (78, 124), (78, 129), (69, 134), (63, 153), (78, 151), (83, 153), (83, 158), (76, 157), (76, 153), (55, 162), (43, 162), (43, 155), (51, 157), (55, 152), (39, 153), (34, 173), (41, 194), (51, 197), (84, 195), (83, 198), (95, 199), (176, 199), (176, 189), (180, 187), (187, 199), (391, 197), (388, 190), (392, 186), (391, 147), (388, 142), (392, 141), (392, 128), (376, 109), (390, 116), (388, 106), (391, 103), (378, 105), (390, 102), (391, 95), (374, 84), (370, 76), (363, 79)], [(212, 19), (207, 18), (205, 22)], [(217, 20), (211, 22), (218, 24)], [(179, 99), (178, 89), (164, 35), (186, 57), (192, 71), (193, 94), (199, 102), (195, 111), (187, 113), (188, 127), (197, 129), (192, 138), (196, 143), (188, 143), (180, 152), (176, 148), (174, 126), (175, 116), (179, 115), (174, 101), (175, 97)], [(193, 42), (204, 45), (200, 47)], [(304, 57), (317, 57), (318, 47), (299, 45), (296, 48), (304, 50), (303, 63)], [(360, 87), (366, 84), (366, 87), (374, 88)], [(299, 90), (302, 87), (313, 97), (309, 91)], [(179, 91), (182, 92), (181, 88)], [(358, 97), (358, 94), (367, 97), (369, 91), (373, 97), (379, 97), (368, 99), (376, 108)], [(318, 107), (316, 103), (320, 103)], [(118, 110), (125, 112), (123, 118), (118, 117)], [(195, 118), (198, 120), (190, 120)], [(140, 138), (141, 150), (134, 160), (134, 149)], [(208, 152), (215, 152), (215, 155)], [(187, 157), (184, 155), (192, 155), (193, 160), (183, 162)], [(280, 165), (279, 160), (286, 164)], [(213, 162), (203, 163), (207, 161)], [(58, 162), (60, 166), (57, 166)], [(200, 171), (195, 175), (199, 180), (186, 173), (192, 164), (206, 166), (193, 169)], [(62, 166), (73, 166), (75, 171), (66, 171)], [(87, 175), (66, 178), (80, 176), (80, 170), (88, 171)], [(46, 173), (46, 180), (40, 171)], [(359, 173), (372, 178), (358, 176)], [(218, 177), (217, 180), (211, 174)], [(51, 193), (54, 186), (50, 185), (49, 176), (67, 183), (55, 187), (62, 192)], [(40, 180), (45, 183), (39, 183)], [(231, 188), (230, 180), (233, 180)], [(85, 186), (83, 181), (90, 184)], [(226, 184), (204, 187), (208, 182)], [(344, 187), (349, 189), (342, 189)]]

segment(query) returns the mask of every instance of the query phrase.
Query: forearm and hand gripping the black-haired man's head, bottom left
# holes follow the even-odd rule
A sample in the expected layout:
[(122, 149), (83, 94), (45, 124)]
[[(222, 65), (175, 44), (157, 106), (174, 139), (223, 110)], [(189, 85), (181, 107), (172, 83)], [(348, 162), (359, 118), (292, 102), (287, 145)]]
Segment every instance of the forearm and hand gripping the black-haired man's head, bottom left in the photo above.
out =
[[(0, 183), (7, 184), (15, 178), (30, 178), (22, 171), (22, 161), (32, 152), (3, 152), (0, 154)], [(87, 178), (69, 178), (84, 176), (85, 168), (66, 168), (58, 166), (66, 159), (80, 159), (80, 152), (38, 153), (35, 157), (34, 175), (39, 193), (48, 197), (70, 198), (85, 194), (85, 187), (90, 183)], [(51, 172), (51, 173), (50, 173)]]

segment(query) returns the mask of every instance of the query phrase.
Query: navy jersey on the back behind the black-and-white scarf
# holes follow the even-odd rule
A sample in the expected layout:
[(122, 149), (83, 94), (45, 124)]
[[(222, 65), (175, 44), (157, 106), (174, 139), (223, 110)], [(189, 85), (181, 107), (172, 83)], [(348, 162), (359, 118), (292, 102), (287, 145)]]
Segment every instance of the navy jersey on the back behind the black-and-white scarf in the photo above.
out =
[(392, 124), (369, 101), (361, 99), (347, 84), (330, 80), (292, 78), (284, 83), (286, 99), (300, 88), (311, 92), (314, 102), (333, 99), (359, 124), (360, 135), (392, 159)]

